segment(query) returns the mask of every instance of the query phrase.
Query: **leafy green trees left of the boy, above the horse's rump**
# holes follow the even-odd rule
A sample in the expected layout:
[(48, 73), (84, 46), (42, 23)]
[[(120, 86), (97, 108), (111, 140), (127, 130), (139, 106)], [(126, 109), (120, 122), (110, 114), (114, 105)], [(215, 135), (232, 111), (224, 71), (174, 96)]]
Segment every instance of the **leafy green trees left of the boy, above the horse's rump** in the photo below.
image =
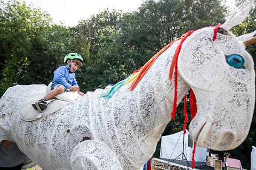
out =
[(76, 47), (73, 32), (26, 3), (2, 2), (0, 10), (0, 96), (15, 84), (48, 84)]

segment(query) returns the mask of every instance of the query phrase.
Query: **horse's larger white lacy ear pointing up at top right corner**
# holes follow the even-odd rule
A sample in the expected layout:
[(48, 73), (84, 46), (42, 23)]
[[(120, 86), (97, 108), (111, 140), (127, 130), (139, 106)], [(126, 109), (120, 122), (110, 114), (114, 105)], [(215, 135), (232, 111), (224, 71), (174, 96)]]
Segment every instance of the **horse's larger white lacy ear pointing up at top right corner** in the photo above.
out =
[(235, 25), (242, 23), (246, 19), (247, 15), (251, 11), (251, 8), (252, 0), (247, 0), (241, 6), (239, 6), (235, 12), (229, 15), (227, 21), (223, 23), (220, 27), (225, 29), (226, 31), (229, 31)]

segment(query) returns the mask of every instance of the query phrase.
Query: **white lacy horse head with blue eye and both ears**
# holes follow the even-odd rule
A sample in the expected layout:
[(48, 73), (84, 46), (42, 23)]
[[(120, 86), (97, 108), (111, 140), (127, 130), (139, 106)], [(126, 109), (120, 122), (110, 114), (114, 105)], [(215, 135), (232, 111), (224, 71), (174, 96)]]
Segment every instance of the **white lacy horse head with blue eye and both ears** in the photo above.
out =
[(189, 132), (200, 147), (234, 149), (249, 133), (255, 72), (245, 46), (254, 43), (255, 38), (248, 39), (256, 31), (235, 37), (229, 30), (246, 18), (251, 6), (252, 1), (246, 1), (219, 28), (197, 30), (182, 45), (178, 70), (197, 100)]

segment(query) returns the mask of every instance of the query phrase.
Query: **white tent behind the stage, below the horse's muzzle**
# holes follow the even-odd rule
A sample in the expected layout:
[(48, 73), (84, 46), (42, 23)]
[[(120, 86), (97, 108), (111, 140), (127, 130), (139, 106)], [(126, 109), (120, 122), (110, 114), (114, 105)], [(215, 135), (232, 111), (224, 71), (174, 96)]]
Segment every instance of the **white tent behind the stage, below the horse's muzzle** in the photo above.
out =
[[(163, 136), (161, 141), (161, 151), (160, 151), (160, 158), (166, 158), (166, 159), (175, 159), (178, 158), (185, 159), (185, 156), (187, 160), (192, 160), (192, 151), (193, 148), (190, 148), (188, 146), (188, 134), (189, 131), (187, 130), (187, 133), (183, 135), (183, 131), (180, 131), (178, 133), (174, 133), (171, 135)], [(184, 137), (184, 149), (183, 149), (183, 137)], [(183, 154), (182, 153), (183, 150)], [(196, 162), (206, 162), (206, 156), (209, 156), (209, 152), (207, 152), (206, 148), (200, 148), (196, 147), (195, 152), (195, 161)]]

